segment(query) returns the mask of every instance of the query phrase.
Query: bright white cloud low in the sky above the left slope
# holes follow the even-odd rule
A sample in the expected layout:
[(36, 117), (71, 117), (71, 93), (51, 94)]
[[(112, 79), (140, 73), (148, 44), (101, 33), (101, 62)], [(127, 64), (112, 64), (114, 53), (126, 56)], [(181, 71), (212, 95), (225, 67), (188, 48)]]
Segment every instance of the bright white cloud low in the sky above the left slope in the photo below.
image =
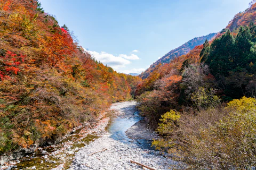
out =
[[(100, 61), (103, 64), (107, 64), (108, 66), (111, 66), (114, 70), (118, 70), (119, 68), (125, 67), (125, 65), (131, 63), (129, 60), (125, 60), (124, 57), (121, 57), (121, 55), (114, 56), (113, 54), (108, 54), (106, 52), (98, 53), (98, 52), (92, 52), (90, 50), (86, 50), (86, 51), (89, 54), (91, 54), (92, 57), (94, 57), (96, 60)], [(129, 57), (131, 56), (127, 56), (127, 59)]]

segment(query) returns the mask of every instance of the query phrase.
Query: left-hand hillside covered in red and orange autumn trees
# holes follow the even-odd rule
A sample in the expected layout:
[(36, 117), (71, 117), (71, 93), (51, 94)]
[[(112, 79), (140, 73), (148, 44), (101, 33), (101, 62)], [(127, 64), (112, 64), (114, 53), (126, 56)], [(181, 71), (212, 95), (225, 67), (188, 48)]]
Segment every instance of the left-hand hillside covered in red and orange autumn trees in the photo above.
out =
[(59, 140), (141, 81), (95, 61), (36, 0), (0, 0), (0, 37), (0, 155)]

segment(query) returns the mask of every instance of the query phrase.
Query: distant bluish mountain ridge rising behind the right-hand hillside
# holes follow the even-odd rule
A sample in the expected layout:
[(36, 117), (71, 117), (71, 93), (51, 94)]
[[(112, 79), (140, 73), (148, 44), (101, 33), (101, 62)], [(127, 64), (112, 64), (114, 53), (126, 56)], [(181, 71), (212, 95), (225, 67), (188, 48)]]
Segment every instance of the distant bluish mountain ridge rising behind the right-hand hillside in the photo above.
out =
[(216, 35), (217, 35), (217, 33), (210, 33), (207, 36), (196, 37), (194, 39), (189, 40), (187, 43), (183, 44), (182, 46), (180, 46), (178, 48), (171, 50), (169, 53), (167, 53), (163, 57), (159, 58), (159, 60), (157, 60), (152, 65), (150, 65), (150, 67), (146, 71), (142, 72), (140, 74), (140, 77), (142, 79), (146, 79), (149, 76), (149, 74), (154, 70), (154, 67), (156, 67), (158, 64), (170, 63), (170, 61), (173, 58), (187, 54), (188, 52), (190, 52), (190, 50), (192, 50), (196, 46), (202, 45), (204, 43), (205, 39), (211, 40)]

